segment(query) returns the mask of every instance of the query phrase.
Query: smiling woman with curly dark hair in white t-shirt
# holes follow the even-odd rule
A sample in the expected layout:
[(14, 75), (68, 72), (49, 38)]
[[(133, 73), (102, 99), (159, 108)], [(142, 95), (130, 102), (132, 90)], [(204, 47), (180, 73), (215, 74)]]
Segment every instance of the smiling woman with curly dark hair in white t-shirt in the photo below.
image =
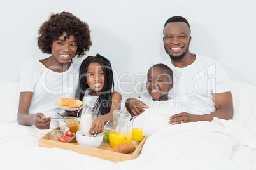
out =
[(75, 75), (80, 65), (73, 63), (72, 58), (85, 55), (91, 45), (87, 23), (71, 13), (52, 13), (41, 25), (38, 47), (51, 55), (43, 60), (32, 60), (22, 69), (17, 114), (19, 124), (34, 125), (38, 129), (50, 128), (50, 116), (61, 111), (57, 107), (57, 99), (75, 97)]

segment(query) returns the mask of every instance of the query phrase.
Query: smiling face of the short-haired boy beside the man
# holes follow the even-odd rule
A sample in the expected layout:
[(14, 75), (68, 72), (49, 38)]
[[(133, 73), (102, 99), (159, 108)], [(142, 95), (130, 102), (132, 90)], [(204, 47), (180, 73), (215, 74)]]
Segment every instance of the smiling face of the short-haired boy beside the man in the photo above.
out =
[(173, 88), (173, 81), (170, 81), (166, 72), (159, 67), (152, 67), (148, 70), (146, 89), (155, 101), (168, 100), (168, 93)]

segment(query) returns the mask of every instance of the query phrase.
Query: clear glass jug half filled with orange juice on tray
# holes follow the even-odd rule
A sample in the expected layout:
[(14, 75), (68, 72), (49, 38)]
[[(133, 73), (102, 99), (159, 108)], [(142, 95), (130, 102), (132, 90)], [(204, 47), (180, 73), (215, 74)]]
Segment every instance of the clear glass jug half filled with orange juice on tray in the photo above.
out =
[(110, 129), (109, 141), (110, 146), (115, 147), (119, 143), (131, 143), (132, 141), (132, 124), (131, 114), (125, 110), (113, 111), (113, 126)]

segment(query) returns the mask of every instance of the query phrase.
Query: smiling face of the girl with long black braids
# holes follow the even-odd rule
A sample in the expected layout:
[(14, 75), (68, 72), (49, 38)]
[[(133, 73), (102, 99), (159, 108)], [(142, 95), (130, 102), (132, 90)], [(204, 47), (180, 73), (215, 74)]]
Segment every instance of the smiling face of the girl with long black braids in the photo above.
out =
[(101, 95), (101, 92), (104, 87), (104, 72), (101, 65), (97, 62), (90, 63), (87, 67), (86, 81), (88, 86), (92, 89), (90, 95)]

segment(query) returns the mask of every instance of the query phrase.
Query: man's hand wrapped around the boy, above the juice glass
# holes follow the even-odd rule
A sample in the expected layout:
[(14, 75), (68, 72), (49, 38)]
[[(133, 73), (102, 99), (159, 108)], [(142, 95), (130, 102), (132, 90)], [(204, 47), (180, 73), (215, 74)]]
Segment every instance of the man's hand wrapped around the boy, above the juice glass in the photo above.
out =
[(132, 116), (140, 115), (145, 111), (143, 108), (148, 108), (147, 105), (136, 98), (128, 98), (125, 102), (125, 107)]

